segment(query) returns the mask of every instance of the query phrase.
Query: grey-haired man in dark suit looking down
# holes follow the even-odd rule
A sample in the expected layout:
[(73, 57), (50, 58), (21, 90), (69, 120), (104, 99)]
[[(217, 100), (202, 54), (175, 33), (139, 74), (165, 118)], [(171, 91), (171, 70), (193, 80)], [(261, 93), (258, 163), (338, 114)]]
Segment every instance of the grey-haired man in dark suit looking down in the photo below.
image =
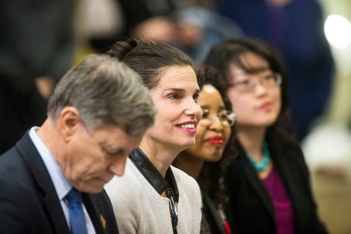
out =
[(138, 74), (86, 57), (56, 86), (41, 128), (0, 157), (0, 233), (118, 233), (103, 186), (154, 115)]

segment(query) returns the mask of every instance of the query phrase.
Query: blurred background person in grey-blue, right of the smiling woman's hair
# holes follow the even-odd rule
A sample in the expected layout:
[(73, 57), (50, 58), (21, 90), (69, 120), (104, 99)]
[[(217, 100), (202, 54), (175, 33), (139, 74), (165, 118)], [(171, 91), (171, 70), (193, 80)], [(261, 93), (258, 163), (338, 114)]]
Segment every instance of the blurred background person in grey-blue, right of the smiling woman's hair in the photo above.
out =
[(244, 35), (236, 22), (214, 11), (211, 1), (207, 2), (200, 0), (172, 14), (178, 28), (176, 46), (195, 64), (204, 59), (214, 44)]

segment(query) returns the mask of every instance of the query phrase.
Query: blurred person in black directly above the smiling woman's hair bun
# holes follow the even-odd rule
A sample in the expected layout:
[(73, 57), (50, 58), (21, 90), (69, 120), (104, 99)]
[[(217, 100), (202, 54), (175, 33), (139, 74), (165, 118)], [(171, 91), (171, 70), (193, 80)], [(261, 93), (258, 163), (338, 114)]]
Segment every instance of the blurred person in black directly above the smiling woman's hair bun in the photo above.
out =
[(106, 52), (115, 41), (126, 39), (136, 34), (147, 34), (147, 39), (157, 43), (172, 40), (173, 22), (168, 14), (183, 8), (183, 0), (113, 0), (123, 15), (122, 27), (109, 36), (95, 35), (91, 46), (98, 52)]

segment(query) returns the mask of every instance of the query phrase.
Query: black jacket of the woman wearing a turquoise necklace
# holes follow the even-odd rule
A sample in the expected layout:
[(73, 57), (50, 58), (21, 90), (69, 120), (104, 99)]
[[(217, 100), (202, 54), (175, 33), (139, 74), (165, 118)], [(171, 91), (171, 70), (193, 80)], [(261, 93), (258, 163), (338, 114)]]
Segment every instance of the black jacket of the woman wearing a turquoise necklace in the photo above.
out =
[[(256, 170), (237, 143), (239, 155), (225, 174), (230, 202), (227, 219), (234, 233), (276, 233), (274, 208)], [(310, 188), (310, 174), (297, 144), (268, 141), (270, 155), (277, 167), (293, 206), (294, 228), (298, 234), (326, 233), (319, 221)]]

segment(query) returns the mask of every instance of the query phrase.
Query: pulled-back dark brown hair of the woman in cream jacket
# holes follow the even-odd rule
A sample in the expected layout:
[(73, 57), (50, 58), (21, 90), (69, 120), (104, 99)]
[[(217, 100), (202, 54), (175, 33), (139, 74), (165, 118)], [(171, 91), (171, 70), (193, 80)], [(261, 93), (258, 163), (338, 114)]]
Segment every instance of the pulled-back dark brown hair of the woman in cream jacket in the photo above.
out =
[(169, 45), (158, 45), (144, 39), (117, 41), (108, 55), (126, 63), (142, 78), (147, 88), (152, 89), (159, 82), (159, 74), (165, 67), (190, 66), (194, 62), (182, 51)]

